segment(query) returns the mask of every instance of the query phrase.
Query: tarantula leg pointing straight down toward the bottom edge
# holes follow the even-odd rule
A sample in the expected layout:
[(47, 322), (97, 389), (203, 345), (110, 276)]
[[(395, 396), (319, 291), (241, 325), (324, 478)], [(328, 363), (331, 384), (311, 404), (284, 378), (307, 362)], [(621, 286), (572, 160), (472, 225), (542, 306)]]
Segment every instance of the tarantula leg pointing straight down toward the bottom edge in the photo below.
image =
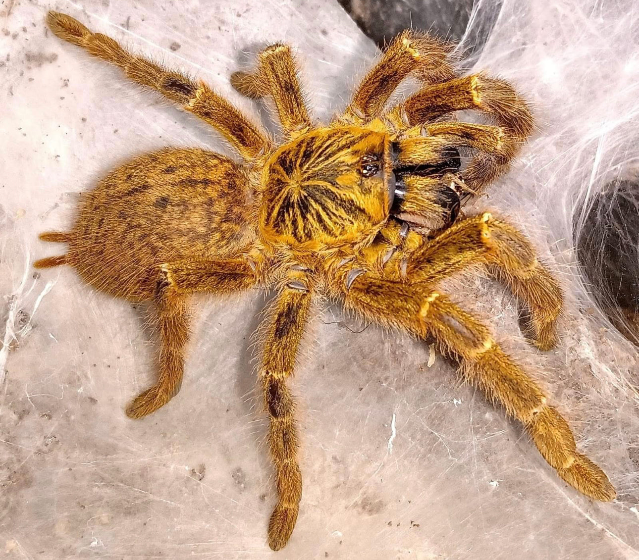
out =
[[(295, 527), (302, 498), (302, 473), (297, 462), (295, 402), (286, 386), (311, 309), (312, 291), (292, 280), (281, 291), (267, 321), (259, 379), (270, 416), (268, 447), (275, 465), (278, 501), (268, 524), (268, 544), (282, 549)], [(304, 289), (302, 289), (304, 287)]]

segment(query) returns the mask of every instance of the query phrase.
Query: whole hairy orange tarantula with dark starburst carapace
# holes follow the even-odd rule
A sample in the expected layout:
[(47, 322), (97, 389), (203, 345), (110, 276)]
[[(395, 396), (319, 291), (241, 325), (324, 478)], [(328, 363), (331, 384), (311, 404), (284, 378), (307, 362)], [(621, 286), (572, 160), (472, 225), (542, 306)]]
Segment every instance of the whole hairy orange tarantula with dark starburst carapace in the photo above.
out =
[[(155, 303), (159, 377), (128, 408), (132, 418), (180, 390), (190, 294), (277, 289), (259, 367), (278, 496), (268, 526), (273, 550), (289, 540), (302, 497), (286, 382), (312, 304), (324, 297), (369, 321), (433, 338), (465, 379), (523, 423), (561, 478), (594, 499), (615, 497), (544, 391), (438, 287), (484, 265), (527, 306), (532, 344), (546, 350), (557, 342), (562, 292), (525, 236), (488, 212), (457, 219), (461, 203), (504, 172), (532, 132), (530, 110), (507, 82), (483, 73), (459, 77), (447, 45), (405, 31), (344, 114), (316, 126), (291, 49), (271, 45), (254, 72), (237, 72), (232, 81), (243, 95), (273, 103), (282, 125), (276, 144), (206, 84), (134, 56), (68, 15), (51, 12), (48, 23), (58, 37), (212, 125), (242, 156), (236, 163), (203, 149), (166, 148), (125, 163), (82, 197), (70, 232), (40, 236), (68, 243), (66, 255), (35, 266), (68, 264), (97, 289)], [(421, 89), (387, 109), (409, 75)], [(447, 118), (464, 109), (492, 124)]]

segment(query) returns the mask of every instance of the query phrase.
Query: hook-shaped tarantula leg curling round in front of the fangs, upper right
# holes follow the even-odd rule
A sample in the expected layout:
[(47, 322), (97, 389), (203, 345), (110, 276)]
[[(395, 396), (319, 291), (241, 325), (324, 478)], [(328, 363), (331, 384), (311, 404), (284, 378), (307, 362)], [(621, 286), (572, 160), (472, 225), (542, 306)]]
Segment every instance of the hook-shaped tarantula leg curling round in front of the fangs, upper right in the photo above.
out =
[[(507, 169), (533, 130), (533, 118), (527, 103), (504, 80), (476, 74), (425, 87), (385, 114), (397, 130), (429, 123), (450, 112), (475, 109), (493, 117), (502, 130), (499, 150), (480, 151), (464, 172), (466, 183), (481, 190)], [(465, 123), (442, 123), (449, 130)]]

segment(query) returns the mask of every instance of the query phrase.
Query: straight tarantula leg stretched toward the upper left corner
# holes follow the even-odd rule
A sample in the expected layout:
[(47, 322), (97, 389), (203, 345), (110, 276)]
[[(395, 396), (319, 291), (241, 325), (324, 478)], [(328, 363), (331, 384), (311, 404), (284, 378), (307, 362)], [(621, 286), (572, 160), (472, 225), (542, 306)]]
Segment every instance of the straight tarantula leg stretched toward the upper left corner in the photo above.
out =
[(182, 109), (217, 128), (243, 158), (254, 160), (270, 149), (270, 140), (265, 133), (206, 84), (196, 83), (179, 72), (134, 56), (111, 37), (93, 33), (64, 13), (50, 11), (47, 24), (59, 38), (118, 66), (135, 83), (155, 89)]

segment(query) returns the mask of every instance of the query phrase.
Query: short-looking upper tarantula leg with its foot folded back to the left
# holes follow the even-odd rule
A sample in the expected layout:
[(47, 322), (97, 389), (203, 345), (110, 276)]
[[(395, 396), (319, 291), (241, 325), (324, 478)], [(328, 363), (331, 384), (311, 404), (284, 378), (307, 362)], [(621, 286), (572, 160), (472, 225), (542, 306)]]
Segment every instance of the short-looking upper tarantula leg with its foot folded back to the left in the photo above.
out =
[(231, 75), (233, 87), (254, 99), (270, 96), (289, 138), (308, 132), (312, 126), (311, 119), (291, 47), (281, 43), (270, 45), (258, 57), (258, 69), (254, 73), (235, 72)]

